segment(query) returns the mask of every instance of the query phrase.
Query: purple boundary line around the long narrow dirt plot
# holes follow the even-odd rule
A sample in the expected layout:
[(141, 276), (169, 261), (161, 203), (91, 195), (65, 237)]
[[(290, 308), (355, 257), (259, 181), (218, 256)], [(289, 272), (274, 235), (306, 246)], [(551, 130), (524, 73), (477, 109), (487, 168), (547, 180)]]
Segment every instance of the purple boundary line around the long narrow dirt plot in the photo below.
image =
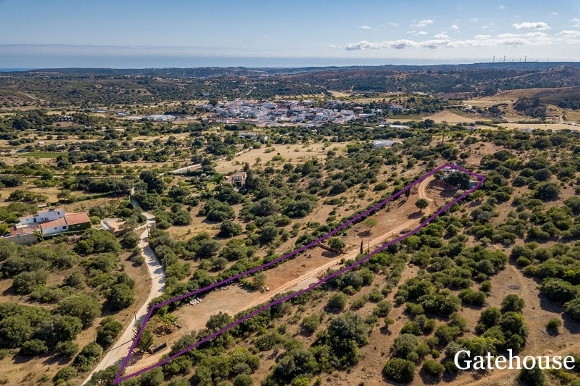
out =
[[(387, 202), (393, 201), (393, 199), (397, 198), (398, 196), (400, 196), (401, 194), (403, 194), (405, 191), (411, 189), (412, 187), (414, 187), (416, 184), (420, 183), (420, 181), (425, 180), (427, 177), (432, 176), (434, 173), (439, 172), (440, 170), (444, 169), (445, 167), (451, 167), (452, 169), (456, 169), (459, 170), (460, 172), (463, 173), (467, 173), (470, 176), (474, 176), (477, 177), (478, 179), (480, 179), (472, 188), (470, 188), (469, 190), (463, 192), (462, 195), (458, 196), (457, 198), (453, 199), (451, 202), (448, 202), (445, 206), (441, 207), (441, 209), (437, 210), (437, 212), (435, 212), (434, 214), (432, 214), (427, 220), (423, 221), (421, 224), (419, 224), (418, 227), (416, 227), (414, 230), (408, 232), (407, 234), (404, 234), (402, 236), (398, 236), (397, 238), (383, 244), (382, 246), (378, 247), (377, 249), (375, 249), (374, 251), (372, 251), (371, 253), (367, 254), (366, 256), (360, 258), (360, 260), (357, 260), (354, 264), (350, 265), (349, 267), (345, 267), (342, 270), (333, 272), (332, 274), (325, 276), (324, 278), (320, 279), (320, 281), (311, 284), (309, 287), (307, 287), (306, 289), (303, 290), (299, 290), (298, 292), (294, 292), (292, 294), (289, 294), (288, 296), (282, 297), (278, 300), (272, 301), (270, 303), (264, 304), (262, 307), (259, 307), (257, 309), (255, 309), (254, 311), (250, 312), (248, 315), (245, 315), (243, 318), (238, 319), (237, 321), (234, 321), (232, 323), (230, 323), (229, 325), (223, 327), (222, 329), (216, 331), (215, 333), (203, 338), (202, 340), (198, 341), (197, 343), (194, 343), (193, 345), (190, 345), (189, 347), (184, 348), (182, 351), (177, 352), (177, 354), (173, 354), (172, 356), (169, 356), (168, 358), (162, 360), (161, 362), (157, 362), (154, 363), (153, 365), (147, 366), (144, 369), (141, 369), (135, 373), (132, 374), (128, 374), (126, 376), (122, 376), (122, 373), (124, 372), (124, 370), (126, 369), (128, 363), (129, 363), (129, 359), (131, 358), (131, 355), (133, 354), (133, 350), (135, 349), (135, 345), (137, 344), (137, 341), (139, 340), (141, 334), (143, 333), (144, 327), (147, 325), (147, 322), (149, 321), (149, 319), (151, 318), (151, 316), (153, 315), (153, 311), (155, 311), (156, 308), (160, 308), (163, 307), (164, 305), (167, 305), (169, 303), (173, 303), (174, 301), (178, 301), (178, 300), (182, 300), (183, 298), (186, 297), (190, 297), (193, 296), (195, 294), (201, 293), (201, 292), (206, 292), (210, 289), (213, 289), (215, 287), (224, 285), (230, 281), (239, 279), (243, 276), (246, 275), (250, 275), (253, 274), (254, 272), (263, 270), (264, 268), (270, 267), (270, 265), (276, 264), (276, 263), (280, 263), (281, 261), (287, 260), (289, 257), (292, 257), (298, 253), (301, 253), (303, 251), (305, 251), (306, 249), (309, 249), (313, 246), (316, 246), (318, 243), (324, 241), (325, 239), (329, 238), (330, 236), (332, 236), (333, 234), (335, 234), (336, 232), (342, 230), (343, 228), (355, 223), (356, 221), (362, 219), (363, 217), (368, 216), (368, 214), (375, 212), (375, 210), (380, 209), (381, 207), (385, 206)], [(128, 380), (129, 378), (132, 377), (136, 377), (144, 372), (147, 372), (149, 370), (153, 370), (155, 369), (155, 367), (159, 367), (162, 365), (165, 365), (165, 363), (171, 362), (171, 360), (177, 358), (177, 356), (183, 355), (186, 352), (191, 351), (192, 349), (198, 347), (199, 345), (205, 343), (206, 341), (209, 341), (213, 338), (215, 338), (216, 336), (226, 332), (227, 330), (232, 329), (233, 327), (239, 325), (242, 322), (247, 321), (247, 319), (252, 318), (252, 316), (255, 316), (257, 314), (259, 314), (262, 311), (265, 311), (266, 309), (269, 309), (270, 307), (272, 307), (273, 305), (276, 304), (280, 304), (283, 301), (289, 300), (291, 298), (297, 297), (302, 295), (303, 293), (306, 293), (308, 291), (310, 291), (311, 289), (314, 289), (318, 286), (321, 286), (323, 283), (329, 281), (330, 279), (341, 275), (347, 271), (352, 270), (353, 268), (357, 267), (358, 265), (364, 263), (365, 261), (369, 260), (369, 258), (375, 256), (375, 254), (382, 252), (383, 250), (385, 250), (387, 247), (400, 242), (402, 240), (404, 240), (405, 238), (412, 236), (414, 234), (416, 234), (417, 232), (419, 232), (423, 227), (425, 227), (425, 225), (429, 224), (431, 221), (433, 221), (437, 216), (439, 216), (441, 213), (445, 212), (446, 210), (448, 210), (452, 205), (454, 205), (456, 202), (461, 201), (463, 198), (465, 198), (467, 195), (472, 194), (473, 191), (477, 190), (477, 188), (479, 188), (481, 186), (481, 184), (483, 184), (485, 181), (485, 177), (482, 176), (481, 174), (477, 174), (474, 172), (471, 172), (470, 170), (464, 169), (461, 166), (457, 166), (457, 165), (451, 165), (449, 163), (445, 163), (444, 165), (438, 166), (435, 169), (431, 170), (430, 172), (427, 172), (425, 174), (423, 174), (423, 176), (419, 177), (418, 179), (416, 179), (414, 182), (412, 182), (411, 184), (407, 185), (405, 188), (403, 188), (402, 190), (396, 192), (395, 194), (391, 195), (389, 198), (379, 202), (377, 205), (371, 207), (371, 209), (365, 210), (365, 212), (362, 212), (361, 214), (358, 214), (357, 216), (353, 217), (352, 219), (346, 221), (345, 223), (343, 223), (342, 225), (339, 225), (339, 227), (336, 227), (334, 230), (328, 232), (327, 234), (325, 234), (324, 236), (322, 236), (321, 238), (303, 246), (300, 247), (299, 249), (296, 249), (295, 251), (285, 254), (284, 256), (278, 257), (276, 260), (270, 261), (270, 263), (266, 263), (263, 265), (260, 265), (259, 267), (256, 268), (252, 268), (251, 270), (245, 271), (245, 272), (241, 272), (241, 274), (237, 274), (234, 276), (231, 276), (230, 278), (224, 279), (218, 283), (213, 283), (212, 285), (209, 285), (207, 287), (195, 290), (193, 292), (189, 292), (180, 296), (177, 296), (175, 298), (171, 298), (169, 300), (165, 300), (161, 303), (155, 304), (153, 307), (151, 307), (149, 309), (149, 312), (147, 312), (147, 316), (143, 322), (143, 325), (141, 326), (139, 332), (137, 333), (137, 336), (135, 337), (135, 339), (133, 340), (133, 344), (131, 345), (131, 348), (129, 348), (129, 352), (128, 354), (125, 356), (125, 359), (122, 362), (121, 368), (119, 369), (119, 372), (117, 373), (117, 376), (115, 376), (115, 380), (113, 382), (114, 385), (118, 384), (119, 382)]]

